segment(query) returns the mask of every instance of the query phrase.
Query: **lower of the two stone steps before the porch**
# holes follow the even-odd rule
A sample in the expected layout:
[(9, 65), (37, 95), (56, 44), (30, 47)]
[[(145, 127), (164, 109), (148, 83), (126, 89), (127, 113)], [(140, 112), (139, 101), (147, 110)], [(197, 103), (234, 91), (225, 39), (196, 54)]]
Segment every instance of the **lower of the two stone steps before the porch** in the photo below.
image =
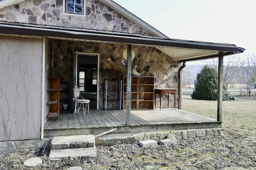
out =
[(74, 149), (58, 149), (51, 150), (49, 154), (50, 160), (60, 160), (62, 158), (95, 158), (97, 156), (96, 149), (92, 148), (74, 148)]

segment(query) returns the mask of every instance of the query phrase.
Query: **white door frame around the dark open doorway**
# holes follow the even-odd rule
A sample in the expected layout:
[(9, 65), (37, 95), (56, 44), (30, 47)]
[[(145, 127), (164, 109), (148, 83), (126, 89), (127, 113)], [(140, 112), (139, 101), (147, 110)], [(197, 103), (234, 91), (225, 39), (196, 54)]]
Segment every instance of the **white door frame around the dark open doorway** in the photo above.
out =
[(74, 86), (77, 85), (77, 62), (78, 62), (78, 55), (94, 55), (97, 56), (97, 110), (99, 109), (99, 72), (100, 72), (100, 54), (99, 53), (82, 53), (82, 52), (74, 52)]

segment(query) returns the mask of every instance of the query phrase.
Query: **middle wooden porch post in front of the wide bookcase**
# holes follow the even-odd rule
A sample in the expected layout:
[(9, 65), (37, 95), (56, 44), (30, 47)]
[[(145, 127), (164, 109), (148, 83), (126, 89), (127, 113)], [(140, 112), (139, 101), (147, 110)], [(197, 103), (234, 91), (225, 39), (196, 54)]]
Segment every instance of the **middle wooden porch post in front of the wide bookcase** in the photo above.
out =
[(127, 48), (126, 126), (131, 125), (132, 45)]

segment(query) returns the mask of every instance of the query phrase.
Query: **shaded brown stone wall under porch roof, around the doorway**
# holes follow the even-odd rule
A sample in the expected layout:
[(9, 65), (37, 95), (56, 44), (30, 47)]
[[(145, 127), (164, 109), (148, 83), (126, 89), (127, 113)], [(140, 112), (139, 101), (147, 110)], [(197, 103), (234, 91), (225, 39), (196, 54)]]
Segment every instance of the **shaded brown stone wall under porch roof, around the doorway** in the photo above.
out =
[[(91, 43), (81, 41), (65, 41), (54, 40), (54, 76), (60, 77), (61, 81), (73, 82), (73, 57), (74, 52), (82, 53), (99, 53), (100, 65), (99, 70), (111, 69), (121, 70), (122, 76), (126, 75), (122, 68), (123, 51), (127, 49), (126, 45), (106, 44), (106, 43)], [(133, 46), (135, 58), (132, 60), (132, 67), (137, 65), (136, 70), (142, 72), (143, 76), (155, 77), (155, 88), (176, 88), (178, 89), (178, 62), (173, 62), (172, 57), (166, 55), (155, 47), (138, 47)], [(62, 56), (63, 58), (60, 59)], [(111, 61), (108, 61), (108, 58)], [(100, 74), (99, 77), (99, 108), (104, 108), (104, 80), (116, 78), (121, 80), (122, 76)], [(72, 87), (70, 89), (73, 89)], [(72, 96), (72, 94), (71, 94)], [(159, 96), (156, 96), (156, 107), (160, 107)], [(178, 98), (176, 98), (178, 100)], [(174, 106), (174, 95), (170, 95), (170, 106)], [(168, 107), (168, 96), (162, 96), (162, 107)], [(178, 106), (178, 105), (177, 105)]]

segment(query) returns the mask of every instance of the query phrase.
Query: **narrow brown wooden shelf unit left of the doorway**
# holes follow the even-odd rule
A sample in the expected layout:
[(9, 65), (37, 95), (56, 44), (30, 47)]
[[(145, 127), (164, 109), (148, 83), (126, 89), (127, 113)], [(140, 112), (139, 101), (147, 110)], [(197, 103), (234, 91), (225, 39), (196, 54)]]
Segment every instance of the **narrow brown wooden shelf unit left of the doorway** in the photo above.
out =
[(60, 78), (48, 77), (48, 119), (60, 114)]

